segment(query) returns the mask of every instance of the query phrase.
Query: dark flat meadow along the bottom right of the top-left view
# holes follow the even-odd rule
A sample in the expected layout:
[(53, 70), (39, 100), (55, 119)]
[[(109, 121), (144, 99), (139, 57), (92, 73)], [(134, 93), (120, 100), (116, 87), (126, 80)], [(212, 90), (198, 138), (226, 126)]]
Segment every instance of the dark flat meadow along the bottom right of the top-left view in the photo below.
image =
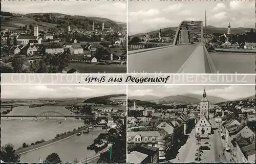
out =
[(126, 65), (71, 63), (66, 70), (71, 68), (76, 69), (79, 73), (126, 73)]

